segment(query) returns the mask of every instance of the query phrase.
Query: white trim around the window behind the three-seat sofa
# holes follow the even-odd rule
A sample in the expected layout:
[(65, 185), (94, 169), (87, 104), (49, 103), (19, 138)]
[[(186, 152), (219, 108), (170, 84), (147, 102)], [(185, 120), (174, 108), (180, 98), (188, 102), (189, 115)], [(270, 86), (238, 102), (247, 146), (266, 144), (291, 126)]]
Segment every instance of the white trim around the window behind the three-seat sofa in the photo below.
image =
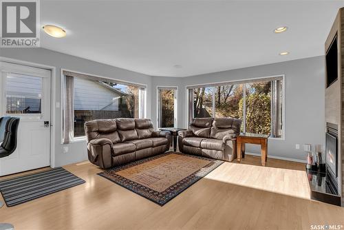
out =
[[(140, 87), (140, 85), (144, 88), (145, 92), (144, 92), (144, 118), (147, 117), (147, 88), (148, 88), (148, 85), (146, 84), (141, 84), (141, 83), (134, 83), (134, 82), (131, 82), (131, 81), (125, 81), (125, 80), (120, 80), (120, 79), (112, 79), (112, 78), (109, 78), (109, 77), (106, 77), (106, 76), (100, 76), (100, 75), (96, 75), (96, 74), (87, 74), (85, 72), (78, 72), (78, 71), (74, 71), (74, 70), (67, 70), (65, 68), (61, 68), (61, 88), (60, 88), (60, 92), (61, 92), (61, 103), (60, 103), (60, 112), (61, 112), (61, 136), (60, 136), (60, 140), (61, 140), (61, 145), (68, 145), (70, 143), (77, 143), (77, 142), (80, 142), (80, 141), (84, 141), (86, 140), (86, 136), (78, 136), (76, 138), (73, 138), (73, 140), (70, 140), (68, 144), (64, 144), (63, 143), (63, 103), (65, 103), (65, 101), (63, 100), (63, 86), (64, 86), (64, 75), (63, 75), (63, 71), (66, 71), (66, 72), (74, 72), (76, 74), (83, 74), (83, 75), (88, 75), (88, 76), (95, 76), (97, 78), (100, 78), (100, 79), (109, 79), (109, 80), (112, 80), (112, 81), (119, 81), (121, 84), (124, 83), (124, 84), (132, 84), (132, 85), (135, 85), (136, 87)], [(73, 109), (73, 113), (74, 113), (74, 109)]]

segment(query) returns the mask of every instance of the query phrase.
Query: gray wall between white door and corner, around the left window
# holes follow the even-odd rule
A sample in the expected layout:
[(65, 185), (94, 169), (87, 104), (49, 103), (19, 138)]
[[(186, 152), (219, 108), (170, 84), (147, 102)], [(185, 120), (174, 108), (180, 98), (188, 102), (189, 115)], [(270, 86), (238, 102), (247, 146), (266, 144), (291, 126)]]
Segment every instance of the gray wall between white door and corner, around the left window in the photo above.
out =
[[(151, 117), (151, 76), (123, 70), (118, 67), (81, 59), (76, 56), (54, 52), (43, 48), (0, 48), (0, 56), (21, 61), (29, 61), (43, 65), (56, 67), (56, 102), (61, 102), (61, 68), (105, 76), (122, 81), (131, 81), (133, 83), (142, 83), (147, 85), (147, 117)], [(56, 119), (52, 124), (56, 127), (56, 145), (55, 145), (55, 165), (67, 165), (80, 162), (87, 159), (86, 143), (80, 141), (61, 145), (61, 110), (56, 108)], [(63, 154), (63, 147), (69, 147), (69, 151)]]

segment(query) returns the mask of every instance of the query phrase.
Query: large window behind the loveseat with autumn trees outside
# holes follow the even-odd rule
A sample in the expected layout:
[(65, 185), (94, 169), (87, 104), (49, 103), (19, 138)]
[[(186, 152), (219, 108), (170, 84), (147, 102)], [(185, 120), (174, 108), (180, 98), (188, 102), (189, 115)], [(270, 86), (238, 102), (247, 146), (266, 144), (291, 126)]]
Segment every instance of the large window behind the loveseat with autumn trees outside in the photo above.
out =
[(241, 132), (283, 133), (283, 77), (255, 79), (189, 88), (189, 118), (240, 118)]

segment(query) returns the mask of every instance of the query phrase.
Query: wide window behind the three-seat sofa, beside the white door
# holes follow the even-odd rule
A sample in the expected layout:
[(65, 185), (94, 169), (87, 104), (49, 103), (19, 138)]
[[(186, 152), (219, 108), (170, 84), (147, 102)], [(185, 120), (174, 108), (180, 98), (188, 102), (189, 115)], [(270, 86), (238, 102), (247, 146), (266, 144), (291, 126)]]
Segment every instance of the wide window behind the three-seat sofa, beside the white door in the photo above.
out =
[(84, 124), (87, 121), (144, 117), (144, 87), (70, 72), (67, 74), (64, 143), (85, 136)]

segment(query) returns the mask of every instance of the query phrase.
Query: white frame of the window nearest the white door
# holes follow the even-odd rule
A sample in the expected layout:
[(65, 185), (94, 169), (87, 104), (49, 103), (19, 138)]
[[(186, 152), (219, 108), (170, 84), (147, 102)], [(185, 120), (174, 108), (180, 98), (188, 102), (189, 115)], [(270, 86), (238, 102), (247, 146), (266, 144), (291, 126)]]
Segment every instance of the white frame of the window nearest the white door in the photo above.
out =
[[(144, 105), (142, 108), (139, 108), (139, 116), (143, 115), (142, 118), (147, 118), (147, 88), (148, 88), (148, 85), (147, 84), (142, 84), (142, 83), (135, 83), (135, 82), (131, 82), (131, 81), (125, 81), (125, 80), (120, 80), (120, 79), (113, 79), (113, 78), (110, 78), (110, 77), (107, 77), (107, 76), (100, 76), (100, 75), (96, 75), (96, 74), (88, 74), (88, 73), (85, 73), (85, 72), (79, 72), (79, 71), (75, 71), (75, 70), (67, 70), (65, 68), (61, 68), (61, 85), (60, 85), (60, 100), (61, 102), (58, 103), (56, 105), (56, 107), (60, 107), (60, 116), (61, 116), (61, 132), (60, 132), (60, 140), (61, 140), (61, 145), (65, 145), (63, 143), (63, 130), (64, 130), (64, 127), (63, 127), (63, 107), (64, 107), (64, 85), (65, 85), (65, 74), (63, 74), (63, 72), (73, 72), (75, 74), (82, 74), (82, 75), (87, 75), (87, 76), (92, 76), (92, 77), (95, 77), (95, 78), (98, 78), (101, 80), (111, 80), (111, 81), (118, 81), (118, 83), (120, 84), (128, 84), (128, 85), (136, 85), (139, 87), (139, 101), (140, 102), (144, 102)], [(141, 87), (140, 87), (141, 86)], [(144, 89), (144, 95), (143, 95), (143, 98), (142, 98), (142, 95), (141, 92), (142, 92), (142, 89)], [(143, 111), (142, 111), (143, 110)], [(74, 109), (73, 109), (73, 114), (74, 114)], [(74, 132), (73, 132), (73, 135), (74, 135)], [(72, 138), (72, 140), (70, 140), (69, 144), (70, 143), (78, 143), (78, 142), (83, 142), (86, 140), (86, 136), (78, 136), (78, 137), (74, 137)]]

